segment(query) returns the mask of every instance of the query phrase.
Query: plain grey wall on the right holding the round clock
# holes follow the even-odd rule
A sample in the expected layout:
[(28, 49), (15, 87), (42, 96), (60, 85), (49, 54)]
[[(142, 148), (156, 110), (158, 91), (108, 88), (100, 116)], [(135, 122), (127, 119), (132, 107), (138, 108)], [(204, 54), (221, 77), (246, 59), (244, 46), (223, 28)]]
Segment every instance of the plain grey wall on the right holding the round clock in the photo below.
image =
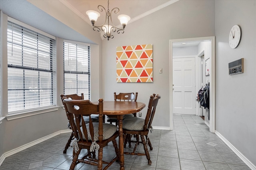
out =
[[(256, 1), (216, 0), (216, 131), (256, 166)], [(233, 25), (242, 30), (231, 49)], [(228, 63), (244, 58), (244, 73), (228, 74)]]

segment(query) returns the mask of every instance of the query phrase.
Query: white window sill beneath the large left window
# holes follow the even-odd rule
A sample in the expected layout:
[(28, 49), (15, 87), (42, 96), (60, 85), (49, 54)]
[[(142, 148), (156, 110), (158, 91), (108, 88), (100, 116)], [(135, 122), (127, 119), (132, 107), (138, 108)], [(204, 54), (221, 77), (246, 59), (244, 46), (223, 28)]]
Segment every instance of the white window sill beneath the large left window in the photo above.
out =
[(7, 121), (14, 120), (14, 119), (20, 119), (23, 117), (33, 116), (33, 115), (39, 115), (42, 113), (47, 113), (51, 111), (57, 111), (60, 106), (54, 106), (54, 107), (48, 107), (44, 109), (37, 109), (33, 111), (26, 111), (21, 113), (14, 113), (6, 116)]

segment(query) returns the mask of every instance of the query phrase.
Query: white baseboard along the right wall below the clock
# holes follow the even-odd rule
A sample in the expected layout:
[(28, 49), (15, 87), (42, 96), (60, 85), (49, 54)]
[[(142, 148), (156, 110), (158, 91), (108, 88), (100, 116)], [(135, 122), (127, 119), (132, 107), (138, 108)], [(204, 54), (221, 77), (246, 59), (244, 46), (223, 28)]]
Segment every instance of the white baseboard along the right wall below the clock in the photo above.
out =
[(251, 169), (256, 170), (256, 166), (250, 162), (239, 150), (237, 150), (228, 140), (226, 140), (220, 133), (215, 131), (215, 134)]

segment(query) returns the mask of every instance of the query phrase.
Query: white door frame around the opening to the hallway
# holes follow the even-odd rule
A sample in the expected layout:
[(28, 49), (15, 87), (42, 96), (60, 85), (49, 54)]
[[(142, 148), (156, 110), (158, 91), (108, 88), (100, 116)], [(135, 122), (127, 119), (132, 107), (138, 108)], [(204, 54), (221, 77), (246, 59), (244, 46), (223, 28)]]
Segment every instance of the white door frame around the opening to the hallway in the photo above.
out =
[(169, 74), (170, 74), (170, 130), (173, 130), (173, 100), (172, 100), (172, 44), (184, 41), (210, 41), (211, 42), (211, 72), (210, 72), (210, 132), (215, 133), (215, 37), (195, 37), (186, 39), (171, 39), (169, 41)]

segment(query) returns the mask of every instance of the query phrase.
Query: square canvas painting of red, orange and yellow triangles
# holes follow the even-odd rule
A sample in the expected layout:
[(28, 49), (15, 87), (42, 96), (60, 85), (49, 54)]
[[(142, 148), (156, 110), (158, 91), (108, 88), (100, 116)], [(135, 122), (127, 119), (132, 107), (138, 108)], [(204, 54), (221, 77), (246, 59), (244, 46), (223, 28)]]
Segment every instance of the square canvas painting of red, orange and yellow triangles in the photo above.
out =
[(153, 82), (152, 44), (116, 47), (116, 82)]

